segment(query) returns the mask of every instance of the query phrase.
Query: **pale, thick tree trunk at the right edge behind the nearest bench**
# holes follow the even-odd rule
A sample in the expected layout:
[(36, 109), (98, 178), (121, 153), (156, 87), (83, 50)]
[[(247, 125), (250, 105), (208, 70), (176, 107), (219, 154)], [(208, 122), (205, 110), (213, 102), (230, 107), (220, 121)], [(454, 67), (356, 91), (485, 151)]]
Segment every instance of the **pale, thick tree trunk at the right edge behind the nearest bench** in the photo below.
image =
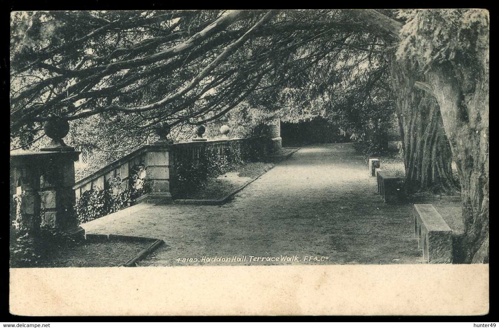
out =
[(462, 186), (465, 262), (489, 261), (489, 51), (476, 62), (456, 58), (432, 68), (428, 83), (440, 105)]

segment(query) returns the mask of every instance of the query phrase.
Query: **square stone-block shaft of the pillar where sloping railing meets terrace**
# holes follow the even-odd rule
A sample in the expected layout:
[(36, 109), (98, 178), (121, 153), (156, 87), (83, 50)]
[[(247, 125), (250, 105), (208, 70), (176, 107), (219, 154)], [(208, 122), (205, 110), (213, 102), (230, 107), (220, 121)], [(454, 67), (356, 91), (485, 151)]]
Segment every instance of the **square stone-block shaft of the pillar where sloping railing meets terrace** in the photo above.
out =
[(156, 143), (148, 146), (146, 153), (146, 178), (151, 183), (148, 203), (168, 203), (170, 193), (173, 147), (171, 144)]

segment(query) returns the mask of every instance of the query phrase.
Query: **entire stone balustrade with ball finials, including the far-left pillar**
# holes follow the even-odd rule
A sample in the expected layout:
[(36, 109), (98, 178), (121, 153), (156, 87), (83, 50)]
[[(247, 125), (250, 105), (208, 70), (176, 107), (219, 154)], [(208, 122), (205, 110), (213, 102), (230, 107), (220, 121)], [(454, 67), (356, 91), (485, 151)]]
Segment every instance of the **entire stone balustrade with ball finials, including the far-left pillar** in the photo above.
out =
[(247, 142), (252, 142), (262, 153), (275, 150), (274, 138), (268, 135), (229, 139), (228, 126), (221, 128), (223, 139), (207, 141), (203, 138), (205, 127), (198, 126), (198, 136), (193, 141), (175, 144), (168, 139), (170, 126), (160, 123), (156, 126), (160, 140), (155, 144), (144, 145), (75, 183), (74, 162), (78, 160), (80, 152), (74, 151), (62, 140), (69, 131), (68, 122), (50, 117), (44, 124), (44, 130), (52, 139), (47, 148), (37, 152), (10, 153), (10, 218), (11, 221), (22, 218), (23, 227), (32, 232), (45, 226), (65, 231), (74, 238), (84, 235), (74, 213), (76, 199), (87, 190), (103, 190), (110, 178), (119, 177), (121, 180), (121, 186), (114, 188), (120, 191), (129, 189), (128, 177), (136, 165), (145, 166), (144, 178), (151, 181), (150, 193), (143, 195), (140, 201), (163, 203), (172, 198), (175, 189), (172, 185), (174, 164), (179, 161), (195, 161), (207, 148), (221, 155), (229, 145), (241, 147)]

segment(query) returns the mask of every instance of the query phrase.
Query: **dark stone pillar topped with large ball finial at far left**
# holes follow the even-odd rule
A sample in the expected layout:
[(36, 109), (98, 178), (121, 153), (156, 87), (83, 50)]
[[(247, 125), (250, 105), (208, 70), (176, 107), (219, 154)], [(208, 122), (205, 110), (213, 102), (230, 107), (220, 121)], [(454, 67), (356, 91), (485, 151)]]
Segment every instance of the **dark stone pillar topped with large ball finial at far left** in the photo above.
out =
[(47, 148), (10, 155), (13, 175), (18, 172), (22, 183), (17, 184), (26, 192), (21, 210), (33, 216), (32, 228), (35, 230), (41, 223), (81, 237), (84, 230), (77, 225), (73, 211), (74, 162), (78, 160), (79, 152), (62, 141), (69, 131), (67, 121), (53, 117), (45, 122), (43, 129), (52, 139)]

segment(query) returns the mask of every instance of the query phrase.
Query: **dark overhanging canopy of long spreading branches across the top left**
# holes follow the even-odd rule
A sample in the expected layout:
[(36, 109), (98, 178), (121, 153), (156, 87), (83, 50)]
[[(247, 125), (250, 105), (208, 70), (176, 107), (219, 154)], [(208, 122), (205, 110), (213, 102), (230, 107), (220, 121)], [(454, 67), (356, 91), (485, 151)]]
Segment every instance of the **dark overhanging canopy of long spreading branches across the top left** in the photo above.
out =
[(143, 135), (160, 121), (208, 122), (245, 100), (267, 110), (282, 110), (290, 95), (293, 108), (332, 104), (344, 97), (335, 87), (381, 66), (385, 45), (341, 10), (38, 11), (11, 20), (11, 130), (23, 141), (51, 115), (100, 114)]

